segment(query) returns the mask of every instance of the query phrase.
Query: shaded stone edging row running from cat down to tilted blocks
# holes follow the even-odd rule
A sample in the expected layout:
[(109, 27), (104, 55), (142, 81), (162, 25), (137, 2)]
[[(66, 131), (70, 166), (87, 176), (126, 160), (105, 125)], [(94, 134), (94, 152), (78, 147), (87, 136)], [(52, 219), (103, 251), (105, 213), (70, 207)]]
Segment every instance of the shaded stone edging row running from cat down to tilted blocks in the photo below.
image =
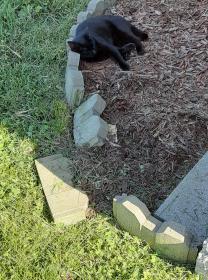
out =
[[(104, 11), (114, 5), (116, 0), (91, 0), (85, 12), (80, 12), (77, 16), (77, 24), (70, 29), (69, 39), (72, 40), (76, 34), (77, 26), (89, 17), (102, 15)], [(80, 55), (71, 51), (67, 47), (67, 67), (65, 74), (65, 94), (70, 108), (74, 111), (84, 98), (84, 78), (79, 70)], [(99, 112), (93, 100), (97, 99), (98, 104), (104, 104), (104, 100), (99, 95), (90, 97), (85, 103), (75, 111), (74, 119), (74, 141), (78, 147), (102, 146), (108, 136), (109, 126), (101, 119), (100, 115), (104, 108)], [(84, 111), (83, 111), (84, 110)], [(82, 113), (82, 111), (84, 113)], [(82, 115), (78, 120), (77, 116)]]

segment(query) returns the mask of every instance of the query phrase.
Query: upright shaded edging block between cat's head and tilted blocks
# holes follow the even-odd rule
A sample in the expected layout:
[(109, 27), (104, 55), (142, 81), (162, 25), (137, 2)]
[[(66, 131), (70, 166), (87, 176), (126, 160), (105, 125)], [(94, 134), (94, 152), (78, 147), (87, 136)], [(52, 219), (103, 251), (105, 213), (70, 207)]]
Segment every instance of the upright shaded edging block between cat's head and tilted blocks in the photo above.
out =
[(84, 79), (81, 71), (66, 68), (65, 93), (69, 106), (79, 106), (84, 96)]

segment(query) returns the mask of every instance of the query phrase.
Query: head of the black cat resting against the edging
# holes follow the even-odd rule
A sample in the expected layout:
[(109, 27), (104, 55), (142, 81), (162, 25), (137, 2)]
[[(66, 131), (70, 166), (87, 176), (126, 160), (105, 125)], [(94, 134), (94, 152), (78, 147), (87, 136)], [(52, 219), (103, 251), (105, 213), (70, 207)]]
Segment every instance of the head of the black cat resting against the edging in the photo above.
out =
[(73, 52), (80, 54), (81, 59), (93, 58), (96, 55), (95, 41), (90, 36), (75, 37), (67, 43)]

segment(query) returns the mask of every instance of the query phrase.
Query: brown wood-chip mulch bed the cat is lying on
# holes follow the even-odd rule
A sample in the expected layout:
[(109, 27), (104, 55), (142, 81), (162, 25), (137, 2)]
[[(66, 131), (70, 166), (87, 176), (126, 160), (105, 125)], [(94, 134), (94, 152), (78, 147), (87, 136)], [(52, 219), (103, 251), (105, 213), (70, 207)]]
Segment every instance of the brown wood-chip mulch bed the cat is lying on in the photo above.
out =
[(150, 40), (130, 72), (82, 63), (86, 94), (100, 90), (118, 143), (72, 151), (77, 184), (98, 211), (122, 193), (154, 210), (208, 149), (208, 1), (120, 0), (111, 13)]

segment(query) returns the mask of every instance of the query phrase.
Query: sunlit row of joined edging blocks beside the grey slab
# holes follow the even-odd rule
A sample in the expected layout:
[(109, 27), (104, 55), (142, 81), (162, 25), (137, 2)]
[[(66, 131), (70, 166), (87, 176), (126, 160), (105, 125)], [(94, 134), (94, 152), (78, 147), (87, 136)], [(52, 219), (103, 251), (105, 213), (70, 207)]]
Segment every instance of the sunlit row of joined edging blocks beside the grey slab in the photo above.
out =
[(159, 221), (137, 197), (116, 196), (113, 214), (122, 229), (145, 240), (158, 254), (180, 263), (195, 263), (198, 249), (192, 245), (192, 235), (184, 226), (171, 221)]

